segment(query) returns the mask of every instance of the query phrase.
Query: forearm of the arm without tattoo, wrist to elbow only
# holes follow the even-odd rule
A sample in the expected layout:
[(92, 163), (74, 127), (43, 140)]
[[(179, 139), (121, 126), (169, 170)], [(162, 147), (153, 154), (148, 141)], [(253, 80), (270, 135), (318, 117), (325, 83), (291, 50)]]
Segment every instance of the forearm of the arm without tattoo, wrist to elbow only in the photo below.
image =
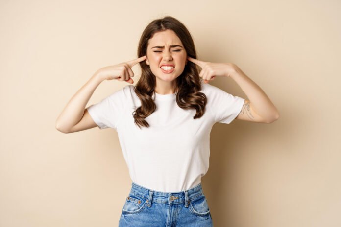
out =
[(100, 77), (99, 71), (97, 71), (90, 80), (73, 95), (55, 122), (55, 127), (58, 131), (68, 132), (69, 129), (82, 119), (86, 104), (102, 81), (103, 79)]

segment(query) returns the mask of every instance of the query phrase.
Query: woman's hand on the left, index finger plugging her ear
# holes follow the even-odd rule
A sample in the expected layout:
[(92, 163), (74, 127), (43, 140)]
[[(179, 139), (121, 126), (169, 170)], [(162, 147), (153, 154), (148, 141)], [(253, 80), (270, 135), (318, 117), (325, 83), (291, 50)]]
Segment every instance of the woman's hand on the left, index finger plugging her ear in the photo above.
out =
[(145, 61), (147, 56), (142, 56), (128, 62), (122, 62), (115, 66), (106, 66), (98, 69), (99, 75), (103, 80), (113, 80), (117, 79), (119, 81), (126, 81), (130, 84), (134, 83), (133, 79), (134, 72), (131, 68), (139, 62)]

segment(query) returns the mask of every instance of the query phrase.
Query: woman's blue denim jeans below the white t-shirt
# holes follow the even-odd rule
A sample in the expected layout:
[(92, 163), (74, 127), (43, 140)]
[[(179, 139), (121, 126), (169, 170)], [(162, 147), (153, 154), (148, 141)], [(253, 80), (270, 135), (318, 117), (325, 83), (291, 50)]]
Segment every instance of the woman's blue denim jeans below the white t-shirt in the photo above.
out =
[(119, 227), (213, 227), (201, 183), (180, 192), (160, 192), (134, 182)]

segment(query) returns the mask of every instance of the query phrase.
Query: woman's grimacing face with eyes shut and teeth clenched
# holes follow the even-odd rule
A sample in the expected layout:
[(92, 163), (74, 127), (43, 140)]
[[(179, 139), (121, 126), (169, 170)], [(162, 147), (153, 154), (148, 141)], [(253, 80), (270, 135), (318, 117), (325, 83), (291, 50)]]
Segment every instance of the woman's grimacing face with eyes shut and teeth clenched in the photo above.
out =
[[(187, 53), (181, 40), (172, 30), (154, 33), (148, 40), (146, 64), (156, 77), (156, 81), (171, 82), (184, 71), (187, 63)], [(174, 68), (161, 68), (163, 64), (170, 64)], [(161, 83), (163, 84), (163, 83)]]

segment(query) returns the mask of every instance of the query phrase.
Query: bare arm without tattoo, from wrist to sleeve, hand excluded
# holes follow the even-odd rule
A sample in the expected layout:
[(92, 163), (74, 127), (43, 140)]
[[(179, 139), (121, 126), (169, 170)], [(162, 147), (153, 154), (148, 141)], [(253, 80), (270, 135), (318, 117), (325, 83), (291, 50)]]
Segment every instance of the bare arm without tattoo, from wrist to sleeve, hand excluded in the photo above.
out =
[(105, 79), (98, 70), (90, 80), (73, 95), (56, 120), (55, 127), (58, 131), (62, 133), (72, 133), (97, 126), (85, 107), (90, 97), (103, 80)]

